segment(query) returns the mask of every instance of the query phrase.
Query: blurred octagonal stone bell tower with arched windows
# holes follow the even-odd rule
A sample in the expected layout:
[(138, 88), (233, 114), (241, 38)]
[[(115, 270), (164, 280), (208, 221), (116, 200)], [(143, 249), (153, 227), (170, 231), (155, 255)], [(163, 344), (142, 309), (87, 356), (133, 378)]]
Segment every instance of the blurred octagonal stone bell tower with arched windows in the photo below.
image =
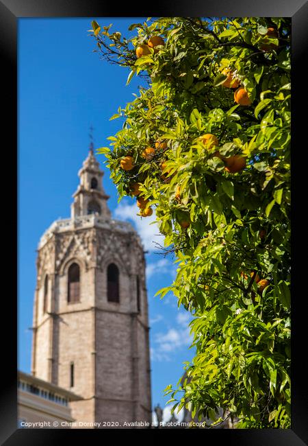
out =
[(92, 145), (78, 175), (71, 218), (38, 245), (31, 373), (83, 397), (77, 422), (151, 422), (142, 244), (112, 219)]

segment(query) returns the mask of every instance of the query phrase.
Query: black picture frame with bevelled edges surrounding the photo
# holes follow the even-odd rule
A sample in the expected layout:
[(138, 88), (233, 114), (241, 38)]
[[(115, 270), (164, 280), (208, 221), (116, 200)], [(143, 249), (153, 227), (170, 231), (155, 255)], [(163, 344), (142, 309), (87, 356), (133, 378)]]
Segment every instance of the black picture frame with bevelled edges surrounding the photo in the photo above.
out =
[[(153, 5), (149, 3), (103, 4), (98, 0), (2, 0), (0, 1), (0, 45), (2, 56), (2, 98), (3, 98), (3, 134), (8, 135), (8, 142), (2, 148), (2, 163), (8, 174), (8, 183), (3, 183), (1, 204), (5, 233), (2, 237), (3, 253), (5, 253), (6, 271), (2, 272), (3, 282), (9, 283), (9, 292), (2, 293), (2, 374), (0, 403), (0, 441), (6, 446), (11, 445), (55, 445), (71, 441), (77, 435), (80, 441), (93, 441), (101, 437), (101, 430), (22, 430), (17, 429), (17, 382), (16, 382), (16, 314), (17, 314), (17, 274), (14, 268), (17, 261), (18, 215), (14, 198), (14, 185), (18, 181), (18, 135), (17, 135), (17, 45), (18, 19), (24, 17), (103, 17), (103, 16), (288, 16), (292, 17), (292, 246), (293, 282), (292, 286), (292, 428), (290, 430), (181, 430), (181, 435), (194, 437), (202, 434), (205, 442), (228, 442), (229, 445), (257, 446), (297, 446), (308, 444), (307, 415), (307, 292), (305, 290), (305, 261), (300, 259), (305, 246), (305, 228), (295, 230), (305, 209), (305, 171), (302, 156), (307, 152), (307, 130), (305, 119), (306, 74), (303, 64), (308, 41), (308, 5), (305, 0), (261, 0), (229, 2), (202, 0), (177, 1), (175, 4)], [(126, 8), (126, 10), (125, 10)], [(120, 14), (119, 14), (120, 12)], [(297, 80), (296, 80), (297, 78)], [(17, 167), (17, 169), (16, 169)], [(302, 167), (302, 170), (300, 170)], [(299, 174), (296, 175), (296, 169)], [(4, 178), (4, 176), (3, 176)], [(17, 191), (17, 188), (15, 189)], [(296, 197), (299, 196), (299, 200)], [(12, 199), (13, 198), (13, 199)], [(303, 201), (305, 200), (305, 201)], [(297, 204), (296, 204), (297, 203)], [(8, 209), (9, 215), (8, 215)], [(299, 226), (303, 227), (303, 226)], [(11, 233), (10, 233), (11, 231)], [(10, 278), (10, 279), (9, 279)], [(303, 290), (302, 290), (303, 288)], [(173, 430), (151, 430), (151, 436), (169, 435)], [(218, 433), (219, 432), (219, 433)], [(136, 435), (136, 432), (134, 433)], [(154, 437), (153, 437), (154, 438)]]

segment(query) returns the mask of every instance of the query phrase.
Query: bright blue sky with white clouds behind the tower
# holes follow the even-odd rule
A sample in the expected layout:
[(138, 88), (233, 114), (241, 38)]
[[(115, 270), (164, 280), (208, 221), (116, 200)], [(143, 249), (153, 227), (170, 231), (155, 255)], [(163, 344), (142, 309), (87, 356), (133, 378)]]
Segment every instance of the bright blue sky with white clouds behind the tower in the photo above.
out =
[[(140, 18), (19, 19), (18, 21), (18, 368), (30, 373), (36, 248), (40, 236), (57, 218), (69, 218), (77, 172), (88, 154), (89, 127), (96, 148), (119, 130), (110, 121), (118, 106), (133, 100), (140, 78), (125, 86), (128, 69), (108, 64), (94, 53), (90, 21), (127, 28)], [(144, 21), (144, 18), (141, 19)], [(190, 316), (177, 309), (176, 298), (154, 297), (175, 277), (172, 259), (157, 254), (162, 242), (154, 217), (140, 220), (133, 199), (118, 204), (116, 187), (105, 171), (103, 186), (114, 218), (132, 222), (149, 251), (146, 254), (151, 325), (152, 403), (164, 406), (163, 390), (176, 384), (183, 362), (192, 359), (187, 325)]]

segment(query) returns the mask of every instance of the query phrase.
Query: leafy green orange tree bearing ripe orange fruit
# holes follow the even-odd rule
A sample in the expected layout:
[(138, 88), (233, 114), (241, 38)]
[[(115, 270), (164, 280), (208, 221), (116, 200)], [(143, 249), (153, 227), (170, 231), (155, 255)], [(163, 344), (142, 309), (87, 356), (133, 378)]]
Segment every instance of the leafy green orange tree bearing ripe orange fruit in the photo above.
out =
[[(290, 19), (160, 18), (103, 58), (142, 78), (107, 157), (120, 197), (155, 208), (177, 277), (158, 294), (194, 316), (196, 355), (172, 410), (290, 427)], [(146, 224), (146, 221), (144, 222)]]

